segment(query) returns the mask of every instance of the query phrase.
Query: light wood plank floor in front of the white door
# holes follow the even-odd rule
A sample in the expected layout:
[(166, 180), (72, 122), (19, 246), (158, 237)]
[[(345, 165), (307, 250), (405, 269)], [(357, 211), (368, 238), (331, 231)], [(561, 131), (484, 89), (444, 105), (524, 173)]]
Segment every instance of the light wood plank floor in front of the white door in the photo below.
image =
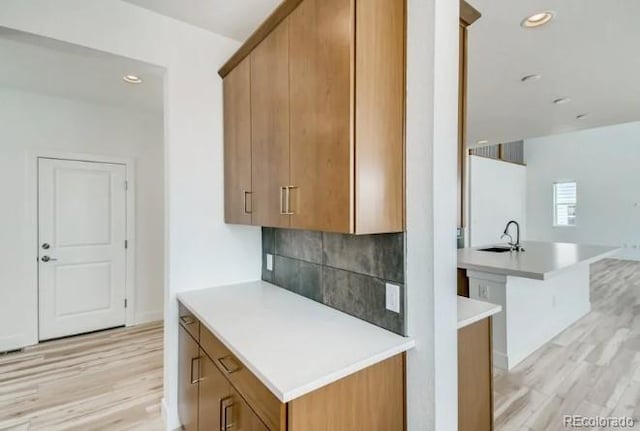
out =
[(159, 431), (162, 324), (0, 355), (0, 430)]

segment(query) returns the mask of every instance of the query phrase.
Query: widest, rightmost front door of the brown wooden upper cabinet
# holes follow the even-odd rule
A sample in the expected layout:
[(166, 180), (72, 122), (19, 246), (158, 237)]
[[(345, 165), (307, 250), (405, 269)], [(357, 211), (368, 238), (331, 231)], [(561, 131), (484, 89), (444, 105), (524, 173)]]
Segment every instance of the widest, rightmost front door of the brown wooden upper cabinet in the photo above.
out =
[(291, 226), (352, 232), (351, 0), (305, 0), (289, 16)]

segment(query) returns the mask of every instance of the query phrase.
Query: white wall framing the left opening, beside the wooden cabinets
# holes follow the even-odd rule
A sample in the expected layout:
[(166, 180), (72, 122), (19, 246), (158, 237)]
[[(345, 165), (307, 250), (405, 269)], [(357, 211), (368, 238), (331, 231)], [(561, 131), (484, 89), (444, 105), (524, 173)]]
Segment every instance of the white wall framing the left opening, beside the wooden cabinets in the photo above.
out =
[(216, 71), (238, 43), (115, 0), (3, 0), (0, 26), (167, 69), (164, 403), (173, 429), (176, 294), (260, 277), (259, 229), (223, 222), (222, 83)]

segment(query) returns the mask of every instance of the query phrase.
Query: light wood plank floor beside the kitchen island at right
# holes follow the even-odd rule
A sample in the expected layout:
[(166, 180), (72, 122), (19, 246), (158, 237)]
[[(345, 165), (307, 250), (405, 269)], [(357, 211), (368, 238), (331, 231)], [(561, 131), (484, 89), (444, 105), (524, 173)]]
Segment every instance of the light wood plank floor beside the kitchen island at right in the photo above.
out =
[(496, 430), (566, 430), (571, 414), (640, 419), (640, 262), (592, 265), (591, 301), (584, 318), (496, 372)]

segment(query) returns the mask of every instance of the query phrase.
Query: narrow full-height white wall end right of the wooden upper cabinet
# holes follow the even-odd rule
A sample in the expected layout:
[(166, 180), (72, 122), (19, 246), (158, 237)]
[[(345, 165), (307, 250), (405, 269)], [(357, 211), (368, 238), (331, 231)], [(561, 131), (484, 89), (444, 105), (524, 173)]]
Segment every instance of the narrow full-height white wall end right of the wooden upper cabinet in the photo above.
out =
[[(456, 160), (458, 2), (408, 0), (409, 431), (458, 429)], [(436, 109), (437, 107), (437, 109)]]

